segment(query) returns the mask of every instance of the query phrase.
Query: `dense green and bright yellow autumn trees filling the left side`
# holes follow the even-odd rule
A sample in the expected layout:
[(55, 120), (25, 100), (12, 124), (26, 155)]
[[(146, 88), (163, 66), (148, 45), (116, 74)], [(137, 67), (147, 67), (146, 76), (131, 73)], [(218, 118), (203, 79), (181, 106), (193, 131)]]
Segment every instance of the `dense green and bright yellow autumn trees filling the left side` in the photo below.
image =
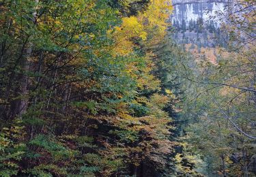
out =
[(150, 46), (171, 10), (166, 1), (2, 1), (0, 176), (165, 172), (172, 97), (152, 74)]

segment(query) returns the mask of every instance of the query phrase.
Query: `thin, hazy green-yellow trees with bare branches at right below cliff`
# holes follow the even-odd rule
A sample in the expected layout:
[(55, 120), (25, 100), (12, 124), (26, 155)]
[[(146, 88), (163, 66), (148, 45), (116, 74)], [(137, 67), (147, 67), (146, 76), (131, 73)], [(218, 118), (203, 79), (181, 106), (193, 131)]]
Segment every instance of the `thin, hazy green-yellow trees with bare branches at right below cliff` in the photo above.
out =
[(187, 86), (182, 117), (185, 154), (199, 155), (195, 170), (206, 176), (255, 176), (255, 1), (229, 4), (216, 48), (216, 62), (205, 55), (184, 63)]

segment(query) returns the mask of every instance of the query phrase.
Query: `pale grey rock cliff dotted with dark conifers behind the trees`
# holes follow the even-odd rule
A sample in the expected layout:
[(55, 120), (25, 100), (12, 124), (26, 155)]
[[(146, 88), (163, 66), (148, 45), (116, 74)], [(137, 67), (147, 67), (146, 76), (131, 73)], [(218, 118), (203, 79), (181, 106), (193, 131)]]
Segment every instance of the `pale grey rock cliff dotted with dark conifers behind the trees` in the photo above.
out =
[(175, 39), (182, 44), (214, 47), (222, 44), (221, 20), (216, 14), (225, 13), (231, 0), (173, 0), (171, 21)]

